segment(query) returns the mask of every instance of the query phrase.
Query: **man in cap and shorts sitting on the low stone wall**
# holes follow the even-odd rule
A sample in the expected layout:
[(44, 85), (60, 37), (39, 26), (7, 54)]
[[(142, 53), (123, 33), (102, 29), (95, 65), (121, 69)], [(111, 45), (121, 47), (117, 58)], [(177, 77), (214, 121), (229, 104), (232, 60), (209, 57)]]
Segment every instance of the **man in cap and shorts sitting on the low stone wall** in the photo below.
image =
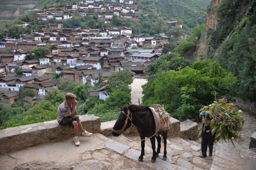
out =
[(57, 122), (60, 125), (71, 125), (74, 128), (74, 142), (76, 146), (79, 146), (80, 141), (78, 140), (78, 128), (82, 136), (91, 136), (92, 133), (87, 132), (86, 129), (83, 129), (82, 127), (76, 111), (76, 95), (73, 93), (66, 93), (65, 98), (66, 100), (58, 107)]

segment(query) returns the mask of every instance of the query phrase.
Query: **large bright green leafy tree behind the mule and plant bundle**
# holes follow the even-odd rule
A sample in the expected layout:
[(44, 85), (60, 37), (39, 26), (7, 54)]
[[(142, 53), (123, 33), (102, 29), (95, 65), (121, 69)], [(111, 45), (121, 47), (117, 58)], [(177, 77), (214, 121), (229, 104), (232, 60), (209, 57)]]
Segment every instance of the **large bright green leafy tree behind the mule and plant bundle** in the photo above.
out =
[(214, 101), (215, 92), (228, 96), (237, 79), (218, 62), (197, 61), (192, 67), (157, 72), (157, 78), (143, 86), (143, 105), (164, 105), (168, 113), (180, 119), (199, 120), (201, 106)]

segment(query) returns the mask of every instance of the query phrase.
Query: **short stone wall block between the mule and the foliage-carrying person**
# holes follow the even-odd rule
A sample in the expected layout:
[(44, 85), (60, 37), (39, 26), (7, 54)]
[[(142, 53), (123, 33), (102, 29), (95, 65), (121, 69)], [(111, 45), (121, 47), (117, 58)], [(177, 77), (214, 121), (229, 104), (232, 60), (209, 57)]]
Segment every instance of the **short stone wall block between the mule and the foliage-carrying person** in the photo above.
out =
[(180, 137), (183, 139), (195, 140), (198, 139), (197, 123), (191, 120), (186, 120), (180, 123)]

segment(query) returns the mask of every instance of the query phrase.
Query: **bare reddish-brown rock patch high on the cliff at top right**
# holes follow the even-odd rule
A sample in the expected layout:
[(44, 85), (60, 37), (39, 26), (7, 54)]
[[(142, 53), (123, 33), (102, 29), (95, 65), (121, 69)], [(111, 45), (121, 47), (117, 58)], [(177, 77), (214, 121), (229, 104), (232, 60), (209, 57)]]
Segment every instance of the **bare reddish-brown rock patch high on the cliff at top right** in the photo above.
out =
[(210, 3), (210, 9), (207, 12), (206, 28), (212, 28), (217, 25), (216, 8), (222, 0), (212, 0)]

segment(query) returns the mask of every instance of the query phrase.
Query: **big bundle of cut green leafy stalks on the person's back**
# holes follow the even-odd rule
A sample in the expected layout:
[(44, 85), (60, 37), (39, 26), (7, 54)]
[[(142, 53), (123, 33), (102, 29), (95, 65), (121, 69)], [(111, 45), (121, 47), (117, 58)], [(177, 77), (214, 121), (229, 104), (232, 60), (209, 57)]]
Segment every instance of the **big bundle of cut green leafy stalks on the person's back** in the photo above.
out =
[(211, 133), (215, 134), (215, 142), (220, 140), (242, 139), (242, 135), (238, 133), (244, 125), (244, 117), (241, 116), (242, 111), (227, 103), (226, 99), (215, 100), (214, 103), (204, 106), (200, 112), (205, 112), (211, 119)]

